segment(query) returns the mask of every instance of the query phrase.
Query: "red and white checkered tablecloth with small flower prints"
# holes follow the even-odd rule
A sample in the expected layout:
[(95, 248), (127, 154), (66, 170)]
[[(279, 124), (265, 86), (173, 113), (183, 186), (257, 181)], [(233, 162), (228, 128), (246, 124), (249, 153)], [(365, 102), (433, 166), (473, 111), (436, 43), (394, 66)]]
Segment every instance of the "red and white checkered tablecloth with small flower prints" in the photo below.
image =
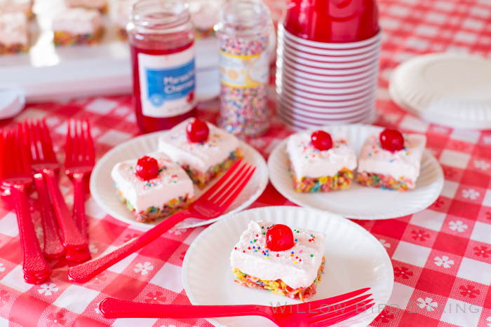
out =
[[(274, 19), (283, 1), (269, 0)], [(394, 292), (371, 326), (491, 327), (491, 132), (452, 130), (424, 123), (390, 101), (391, 69), (415, 55), (452, 51), (491, 56), (491, 0), (380, 0), (384, 29), (377, 125), (428, 136), (428, 147), (445, 171), (443, 193), (426, 210), (387, 221), (356, 221), (384, 244), (394, 265)], [(272, 79), (272, 78), (271, 78)], [(271, 88), (274, 113), (274, 88)], [(199, 117), (215, 121), (218, 102), (200, 105)], [(88, 118), (97, 158), (139, 133), (130, 96), (96, 97), (29, 104), (13, 120), (45, 117), (60, 162), (68, 118)], [(292, 131), (276, 118), (269, 133), (249, 141), (266, 158)], [(67, 202), (73, 188), (60, 184)], [(33, 202), (34, 203), (34, 202)], [(293, 205), (269, 184), (252, 205)], [(36, 204), (34, 203), (34, 207)], [(93, 199), (86, 202), (93, 257), (142, 231), (108, 216)], [(36, 231), (41, 237), (39, 214)], [(23, 281), (22, 251), (15, 211), (0, 200), (0, 326), (210, 326), (204, 319), (104, 319), (97, 305), (108, 296), (140, 302), (189, 304), (181, 280), (189, 244), (203, 230), (170, 230), (87, 284), (67, 278), (66, 260), (53, 260), (45, 284)], [(42, 239), (42, 237), (40, 238)]]

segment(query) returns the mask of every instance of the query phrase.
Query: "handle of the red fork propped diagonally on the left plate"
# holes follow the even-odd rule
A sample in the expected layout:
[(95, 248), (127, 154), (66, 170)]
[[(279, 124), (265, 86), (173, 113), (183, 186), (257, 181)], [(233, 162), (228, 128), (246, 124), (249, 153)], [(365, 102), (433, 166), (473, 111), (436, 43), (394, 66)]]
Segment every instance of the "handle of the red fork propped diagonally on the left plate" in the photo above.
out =
[(129, 256), (131, 253), (142, 249), (143, 246), (152, 242), (154, 239), (173, 227), (176, 223), (179, 223), (185, 218), (190, 218), (192, 216), (194, 215), (187, 209), (179, 211), (167, 218), (165, 221), (155, 225), (152, 229), (147, 230), (147, 232), (144, 232), (139, 237), (130, 239), (128, 242), (117, 247), (113, 251), (98, 258), (89, 260), (86, 263), (69, 267), (69, 279), (72, 279), (77, 283), (86, 283), (87, 281), (90, 281), (90, 279), (93, 279), (93, 277), (97, 276), (97, 274), (100, 274), (115, 263), (119, 263), (119, 261)]

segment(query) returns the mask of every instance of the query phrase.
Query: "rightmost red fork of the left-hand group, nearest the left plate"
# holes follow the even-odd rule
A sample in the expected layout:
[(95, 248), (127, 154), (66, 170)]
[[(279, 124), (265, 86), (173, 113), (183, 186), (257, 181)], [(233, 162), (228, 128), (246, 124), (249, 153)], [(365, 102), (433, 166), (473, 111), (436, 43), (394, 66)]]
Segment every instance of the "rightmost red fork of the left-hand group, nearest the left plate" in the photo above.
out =
[[(95, 165), (95, 151), (88, 120), (68, 122), (67, 143), (65, 146), (65, 174), (74, 182), (74, 211), (76, 225), (87, 238), (87, 219), (85, 210), (85, 179)], [(84, 128), (85, 126), (85, 128)]]

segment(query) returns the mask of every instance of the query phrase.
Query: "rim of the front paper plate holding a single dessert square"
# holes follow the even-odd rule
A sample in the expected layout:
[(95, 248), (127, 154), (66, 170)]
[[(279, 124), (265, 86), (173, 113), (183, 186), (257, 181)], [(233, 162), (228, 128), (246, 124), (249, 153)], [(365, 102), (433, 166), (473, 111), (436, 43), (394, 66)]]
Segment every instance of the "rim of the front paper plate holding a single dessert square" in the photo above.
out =
[[(213, 230), (216, 228), (216, 226), (219, 226), (222, 223), (227, 223), (227, 221), (231, 221), (232, 219), (236, 219), (238, 215), (243, 215), (243, 214), (248, 214), (250, 211), (269, 211), (269, 210), (277, 210), (277, 209), (282, 209), (282, 210), (296, 210), (296, 211), (314, 211), (318, 213), (319, 215), (326, 216), (326, 219), (341, 219), (342, 221), (348, 223), (349, 225), (352, 225), (353, 228), (360, 230), (362, 233), (369, 235), (372, 239), (375, 239), (375, 244), (376, 246), (379, 246), (379, 252), (384, 256), (384, 260), (387, 263), (387, 266), (390, 267), (391, 273), (392, 273), (392, 278), (389, 278), (389, 292), (388, 295), (386, 295), (386, 300), (383, 299), (382, 301), (389, 302), (389, 299), (392, 295), (392, 291), (394, 291), (394, 265), (392, 265), (392, 260), (391, 257), (389, 256), (389, 253), (387, 253), (386, 249), (384, 246), (378, 241), (378, 239), (372, 235), (368, 230), (365, 230), (365, 228), (361, 227), (361, 225), (358, 225), (354, 221), (350, 221), (349, 219), (345, 219), (339, 214), (334, 214), (330, 211), (323, 211), (321, 209), (316, 209), (316, 208), (307, 208), (307, 207), (293, 207), (293, 206), (288, 206), (288, 205), (283, 205), (283, 206), (269, 206), (269, 207), (258, 207), (258, 208), (253, 208), (253, 209), (248, 209), (248, 210), (243, 210), (240, 212), (237, 212), (236, 214), (232, 214), (227, 216), (224, 219), (220, 219), (220, 221), (216, 221), (213, 223), (213, 225), (209, 225), (205, 230), (199, 233), (199, 235), (193, 240), (193, 242), (189, 245), (189, 248), (187, 249), (186, 255), (184, 256), (184, 260), (182, 260), (182, 284), (184, 286), (184, 291), (186, 291), (187, 298), (189, 299), (189, 302), (191, 302), (192, 305), (199, 305), (199, 302), (196, 301), (194, 298), (194, 295), (191, 293), (191, 289), (189, 286), (189, 277), (187, 275), (187, 270), (189, 269), (189, 261), (190, 257), (193, 255), (194, 250), (198, 246), (199, 242), (203, 237), (208, 235), (210, 232), (213, 232)], [(214, 227), (215, 226), (215, 227)], [(386, 305), (384, 303), (384, 305)], [(380, 303), (382, 304), (382, 303)], [(377, 314), (378, 315), (378, 314)], [(372, 323), (372, 321), (375, 320), (377, 315), (373, 316), (373, 319), (367, 322), (367, 326)], [(227, 325), (223, 325), (219, 321), (213, 318), (206, 318), (208, 322), (213, 324), (213, 326), (220, 326), (220, 327), (228, 327)]]

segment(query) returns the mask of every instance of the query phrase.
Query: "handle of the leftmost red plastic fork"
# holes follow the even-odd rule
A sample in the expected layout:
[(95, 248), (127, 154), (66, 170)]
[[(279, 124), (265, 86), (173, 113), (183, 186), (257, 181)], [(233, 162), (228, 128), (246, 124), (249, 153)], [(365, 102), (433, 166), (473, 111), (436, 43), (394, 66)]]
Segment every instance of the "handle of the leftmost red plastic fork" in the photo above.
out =
[(27, 193), (24, 185), (15, 185), (11, 188), (15, 198), (15, 212), (17, 213), (17, 223), (19, 225), (20, 244), (24, 253), (24, 263), (22, 270), (26, 275), (42, 276), (39, 280), (25, 279), (29, 284), (39, 284), (51, 276), (51, 267), (46, 263), (43, 257), (41, 247), (34, 231), (29, 202), (27, 202)]

